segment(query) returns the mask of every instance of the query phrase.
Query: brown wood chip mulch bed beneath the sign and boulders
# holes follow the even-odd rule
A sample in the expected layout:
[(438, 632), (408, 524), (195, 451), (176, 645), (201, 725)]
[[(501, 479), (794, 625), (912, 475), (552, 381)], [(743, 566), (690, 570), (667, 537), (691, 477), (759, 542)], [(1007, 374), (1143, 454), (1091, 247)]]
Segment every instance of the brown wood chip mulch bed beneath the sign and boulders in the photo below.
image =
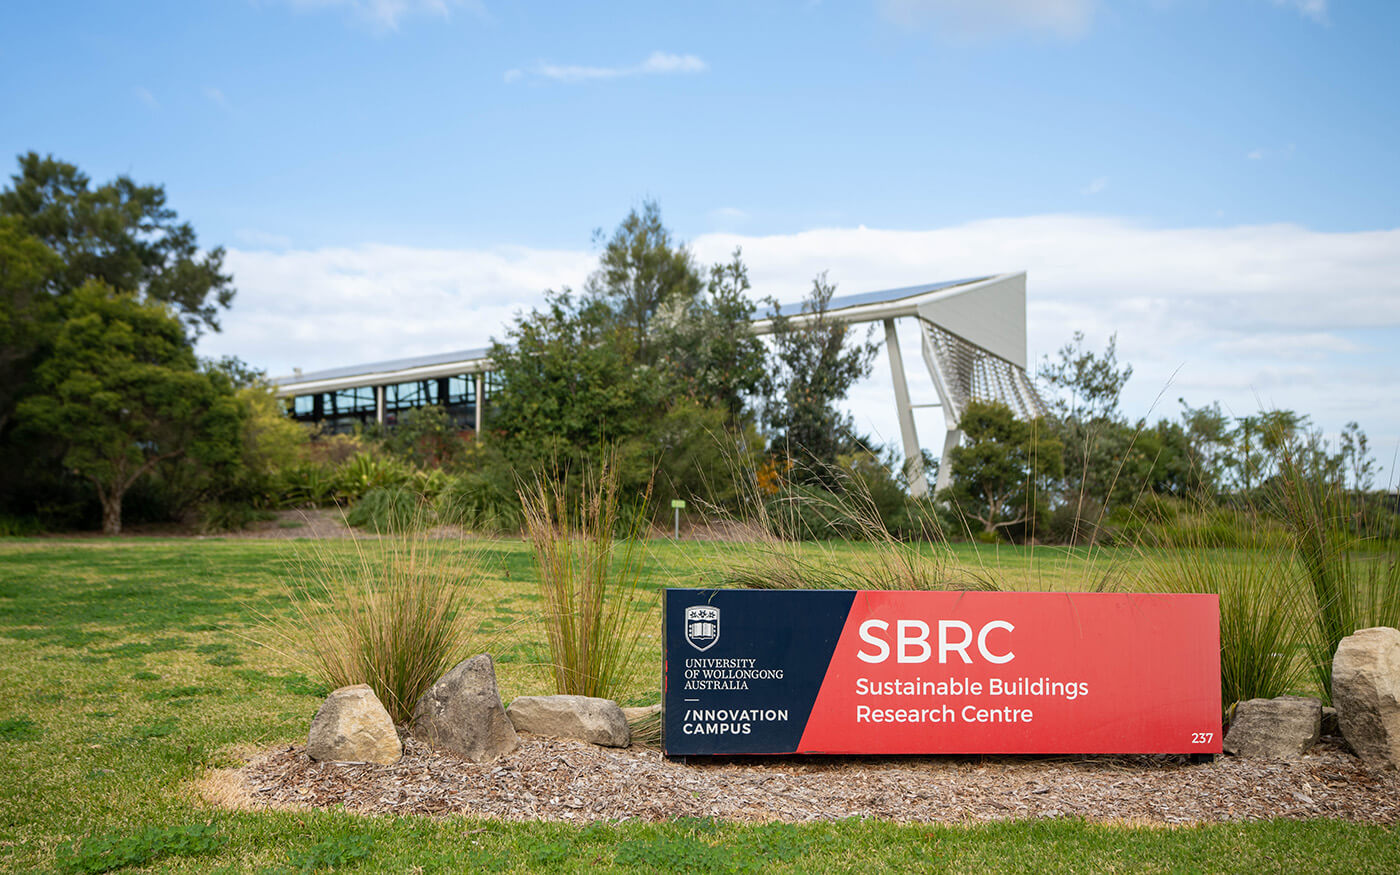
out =
[[(225, 773), (241, 806), (343, 805), (360, 813), (501, 820), (741, 822), (1026, 818), (1184, 825), (1266, 818), (1400, 819), (1400, 774), (1336, 743), (1298, 760), (1180, 756), (781, 757), (666, 760), (651, 749), (521, 735), (476, 764), (405, 738), (393, 766), (314, 763), (301, 746)], [(225, 784), (228, 783), (225, 781)], [(225, 794), (225, 799), (230, 798)]]

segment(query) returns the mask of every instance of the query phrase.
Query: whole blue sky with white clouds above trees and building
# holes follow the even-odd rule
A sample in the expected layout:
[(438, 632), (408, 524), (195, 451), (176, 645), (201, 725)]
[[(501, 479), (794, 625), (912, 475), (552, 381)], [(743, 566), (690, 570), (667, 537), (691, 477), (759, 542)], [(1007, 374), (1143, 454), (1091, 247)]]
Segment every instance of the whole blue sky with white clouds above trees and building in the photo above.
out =
[(164, 183), (231, 251), (206, 350), (273, 372), (484, 343), (655, 197), (762, 294), (1026, 269), (1032, 356), (1117, 332), (1131, 413), (1390, 455), (1397, 43), (1348, 0), (10, 4), (0, 154)]

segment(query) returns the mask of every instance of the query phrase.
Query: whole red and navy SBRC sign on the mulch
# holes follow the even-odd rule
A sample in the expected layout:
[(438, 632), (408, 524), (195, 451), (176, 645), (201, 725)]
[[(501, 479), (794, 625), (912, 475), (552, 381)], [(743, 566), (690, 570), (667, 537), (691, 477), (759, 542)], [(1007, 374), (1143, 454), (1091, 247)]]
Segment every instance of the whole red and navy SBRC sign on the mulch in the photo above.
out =
[(1219, 753), (1219, 599), (666, 589), (665, 750)]

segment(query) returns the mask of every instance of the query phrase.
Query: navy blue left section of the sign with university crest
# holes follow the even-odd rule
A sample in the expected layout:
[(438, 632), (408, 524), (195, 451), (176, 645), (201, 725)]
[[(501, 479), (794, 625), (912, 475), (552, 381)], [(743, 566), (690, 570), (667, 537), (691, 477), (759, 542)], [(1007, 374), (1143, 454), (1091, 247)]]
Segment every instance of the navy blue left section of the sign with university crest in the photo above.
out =
[(666, 755), (797, 752), (854, 598), (666, 589)]

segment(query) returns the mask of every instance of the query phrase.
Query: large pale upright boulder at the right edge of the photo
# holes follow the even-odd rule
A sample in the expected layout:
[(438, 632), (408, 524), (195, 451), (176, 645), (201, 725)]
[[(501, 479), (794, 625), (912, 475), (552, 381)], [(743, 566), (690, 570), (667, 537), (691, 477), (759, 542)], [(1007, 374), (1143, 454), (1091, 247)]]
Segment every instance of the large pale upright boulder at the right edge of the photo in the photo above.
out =
[(1400, 631), (1378, 626), (1341, 640), (1331, 661), (1331, 703), (1357, 756), (1400, 767)]

